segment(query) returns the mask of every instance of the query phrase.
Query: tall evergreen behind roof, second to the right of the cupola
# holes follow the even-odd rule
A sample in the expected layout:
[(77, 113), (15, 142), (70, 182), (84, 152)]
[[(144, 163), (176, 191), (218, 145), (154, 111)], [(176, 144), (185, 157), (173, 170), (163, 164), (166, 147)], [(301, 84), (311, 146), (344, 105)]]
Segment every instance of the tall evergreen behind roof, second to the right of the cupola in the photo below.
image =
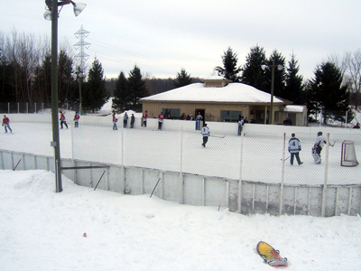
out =
[(256, 89), (266, 89), (266, 79), (261, 65), (265, 64), (267, 59), (265, 57), (264, 47), (258, 44), (251, 48), (251, 51), (245, 57), (245, 65), (242, 67), (241, 82), (255, 87)]

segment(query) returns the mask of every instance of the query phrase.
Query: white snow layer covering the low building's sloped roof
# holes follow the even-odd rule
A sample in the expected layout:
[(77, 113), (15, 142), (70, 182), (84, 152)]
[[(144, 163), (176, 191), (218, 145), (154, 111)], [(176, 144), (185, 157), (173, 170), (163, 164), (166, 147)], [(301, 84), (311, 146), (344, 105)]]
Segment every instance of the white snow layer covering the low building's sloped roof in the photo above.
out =
[[(271, 103), (271, 94), (242, 83), (230, 83), (222, 88), (206, 88), (203, 83), (194, 83), (141, 98), (141, 101)], [(284, 104), (276, 97), (273, 103)]]

